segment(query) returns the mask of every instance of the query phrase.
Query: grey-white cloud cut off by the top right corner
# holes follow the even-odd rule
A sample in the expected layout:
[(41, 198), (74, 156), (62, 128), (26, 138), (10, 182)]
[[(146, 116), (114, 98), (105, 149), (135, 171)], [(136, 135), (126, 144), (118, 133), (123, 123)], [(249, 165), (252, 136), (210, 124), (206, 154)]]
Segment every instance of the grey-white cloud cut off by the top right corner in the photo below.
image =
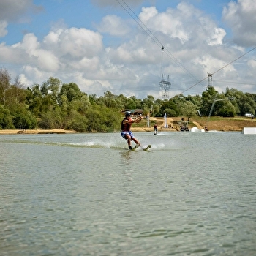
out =
[(256, 45), (256, 1), (230, 1), (222, 12), (223, 20), (233, 31), (233, 41), (243, 47)]

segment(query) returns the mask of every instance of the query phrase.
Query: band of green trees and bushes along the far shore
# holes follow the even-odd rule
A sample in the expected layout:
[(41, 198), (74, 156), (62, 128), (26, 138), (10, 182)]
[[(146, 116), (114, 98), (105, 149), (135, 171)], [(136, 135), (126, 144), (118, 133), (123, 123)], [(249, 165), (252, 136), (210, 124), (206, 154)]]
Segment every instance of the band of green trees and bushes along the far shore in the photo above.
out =
[(61, 83), (49, 78), (41, 85), (27, 87), (18, 77), (11, 80), (7, 69), (0, 69), (0, 129), (73, 129), (78, 132), (113, 132), (120, 129), (121, 110), (142, 109), (144, 115), (184, 116), (244, 116), (255, 114), (256, 94), (226, 89), (219, 94), (214, 87), (202, 95), (185, 97), (178, 94), (169, 100), (145, 99), (114, 95), (86, 94), (75, 83)]

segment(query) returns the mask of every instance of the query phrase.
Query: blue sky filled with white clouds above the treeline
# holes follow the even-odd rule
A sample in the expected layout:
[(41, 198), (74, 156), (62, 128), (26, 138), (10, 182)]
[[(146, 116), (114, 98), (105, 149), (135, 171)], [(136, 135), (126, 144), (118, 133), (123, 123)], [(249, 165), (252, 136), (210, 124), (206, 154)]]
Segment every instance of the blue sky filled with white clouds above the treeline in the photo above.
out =
[(0, 0), (0, 68), (98, 97), (201, 95), (208, 73), (256, 93), (255, 23), (255, 0)]

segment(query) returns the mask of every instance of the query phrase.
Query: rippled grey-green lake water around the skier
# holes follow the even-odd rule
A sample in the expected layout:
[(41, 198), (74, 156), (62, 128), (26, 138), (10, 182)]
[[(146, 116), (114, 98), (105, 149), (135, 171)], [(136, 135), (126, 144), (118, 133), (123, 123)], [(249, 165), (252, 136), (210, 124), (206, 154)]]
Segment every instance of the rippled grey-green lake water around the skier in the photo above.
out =
[(256, 255), (256, 135), (0, 135), (0, 255)]

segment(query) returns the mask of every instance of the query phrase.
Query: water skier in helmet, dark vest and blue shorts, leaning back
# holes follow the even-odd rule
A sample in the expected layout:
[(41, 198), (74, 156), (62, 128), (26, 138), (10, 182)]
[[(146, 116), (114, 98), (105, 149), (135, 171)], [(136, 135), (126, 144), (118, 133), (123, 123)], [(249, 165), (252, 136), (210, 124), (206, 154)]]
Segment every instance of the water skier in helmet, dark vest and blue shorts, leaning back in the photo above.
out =
[(141, 116), (137, 119), (132, 119), (131, 113), (129, 111), (125, 112), (125, 118), (121, 121), (121, 137), (127, 140), (128, 148), (132, 149), (132, 140), (140, 146), (139, 141), (134, 137), (131, 131), (132, 123), (139, 123)]

